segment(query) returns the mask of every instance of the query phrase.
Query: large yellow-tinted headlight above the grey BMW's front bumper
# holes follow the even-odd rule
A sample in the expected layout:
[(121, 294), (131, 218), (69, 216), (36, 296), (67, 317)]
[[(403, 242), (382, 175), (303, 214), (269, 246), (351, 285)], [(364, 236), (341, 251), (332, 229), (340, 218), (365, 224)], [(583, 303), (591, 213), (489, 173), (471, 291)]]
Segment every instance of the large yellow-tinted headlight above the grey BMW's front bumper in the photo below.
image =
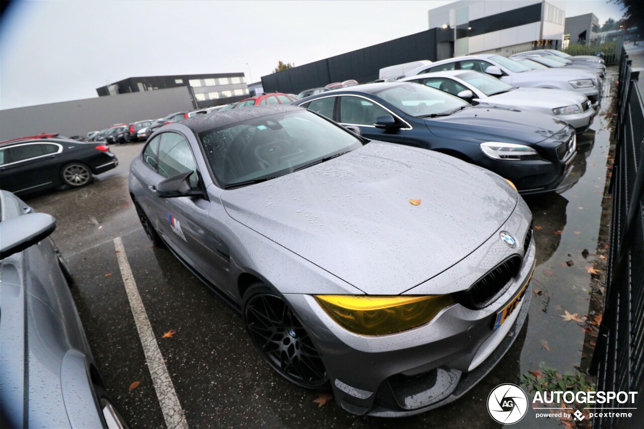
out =
[(363, 335), (384, 335), (424, 325), (454, 301), (450, 295), (315, 295), (341, 327)]

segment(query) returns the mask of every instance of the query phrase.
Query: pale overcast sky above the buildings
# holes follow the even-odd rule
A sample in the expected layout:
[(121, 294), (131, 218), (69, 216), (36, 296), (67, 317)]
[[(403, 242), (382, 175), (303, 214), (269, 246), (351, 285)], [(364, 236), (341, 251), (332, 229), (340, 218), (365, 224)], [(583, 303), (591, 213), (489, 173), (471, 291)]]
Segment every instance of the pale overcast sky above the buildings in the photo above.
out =
[[(0, 29), (0, 108), (97, 97), (127, 77), (244, 72), (317, 61), (428, 29), (415, 1), (21, 1)], [(566, 16), (621, 17), (609, 0)], [(248, 65), (247, 65), (248, 63)], [(250, 70), (249, 70), (250, 69)]]

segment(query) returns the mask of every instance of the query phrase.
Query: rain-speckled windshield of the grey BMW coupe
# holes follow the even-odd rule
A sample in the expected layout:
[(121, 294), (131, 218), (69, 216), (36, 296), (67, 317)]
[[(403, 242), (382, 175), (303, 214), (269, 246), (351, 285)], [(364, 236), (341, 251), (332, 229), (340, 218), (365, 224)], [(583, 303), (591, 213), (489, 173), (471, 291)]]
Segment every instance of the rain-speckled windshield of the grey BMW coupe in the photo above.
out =
[(292, 173), (312, 162), (351, 151), (361, 140), (310, 111), (291, 111), (199, 133), (222, 187)]

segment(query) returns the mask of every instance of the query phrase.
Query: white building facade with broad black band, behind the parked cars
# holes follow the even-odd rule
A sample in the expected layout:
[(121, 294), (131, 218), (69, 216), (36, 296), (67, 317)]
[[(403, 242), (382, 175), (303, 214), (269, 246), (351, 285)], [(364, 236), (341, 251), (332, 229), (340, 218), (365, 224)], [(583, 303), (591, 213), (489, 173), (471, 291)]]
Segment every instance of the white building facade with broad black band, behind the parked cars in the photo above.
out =
[(428, 12), (431, 28), (454, 32), (454, 55), (560, 48), (564, 4), (558, 0), (461, 0)]

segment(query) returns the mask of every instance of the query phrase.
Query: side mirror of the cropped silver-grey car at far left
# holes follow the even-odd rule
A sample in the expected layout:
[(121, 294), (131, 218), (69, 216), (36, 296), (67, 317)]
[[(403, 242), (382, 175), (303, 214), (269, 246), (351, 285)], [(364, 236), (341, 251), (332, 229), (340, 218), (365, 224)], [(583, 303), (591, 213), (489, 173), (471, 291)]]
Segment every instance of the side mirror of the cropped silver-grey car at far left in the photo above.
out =
[(56, 229), (56, 219), (45, 213), (29, 213), (0, 222), (0, 259), (18, 253), (46, 238)]

